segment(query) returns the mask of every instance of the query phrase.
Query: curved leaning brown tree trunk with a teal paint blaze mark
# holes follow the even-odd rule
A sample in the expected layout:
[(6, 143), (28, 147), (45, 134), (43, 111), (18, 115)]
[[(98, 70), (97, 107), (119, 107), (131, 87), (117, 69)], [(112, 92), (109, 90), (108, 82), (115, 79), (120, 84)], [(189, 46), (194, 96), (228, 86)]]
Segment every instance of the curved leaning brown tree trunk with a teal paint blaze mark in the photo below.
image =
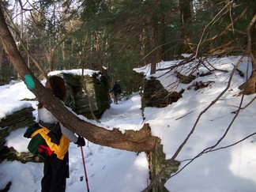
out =
[(9, 32), (2, 9), (0, 9), (0, 42), (6, 51), (7, 57), (13, 63), (15, 70), (17, 70), (17, 73), (19, 73), (28, 89), (35, 94), (44, 107), (62, 122), (63, 126), (98, 145), (135, 152), (152, 151), (155, 149), (158, 138), (151, 135), (149, 124), (144, 124), (139, 131), (126, 130), (122, 134), (118, 129), (106, 130), (73, 115), (57, 97), (53, 96), (51, 92), (48, 92), (43, 87), (31, 70), (29, 70)]

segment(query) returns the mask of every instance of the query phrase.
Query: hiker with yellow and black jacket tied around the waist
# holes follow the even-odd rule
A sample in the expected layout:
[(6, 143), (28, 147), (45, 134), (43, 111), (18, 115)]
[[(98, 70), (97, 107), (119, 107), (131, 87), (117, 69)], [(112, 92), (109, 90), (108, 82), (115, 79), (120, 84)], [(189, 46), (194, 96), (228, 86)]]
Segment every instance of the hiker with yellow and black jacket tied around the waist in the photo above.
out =
[[(65, 81), (62, 77), (51, 76), (45, 87), (60, 100), (66, 97)], [(64, 192), (66, 190), (66, 178), (69, 177), (69, 152), (70, 141), (79, 146), (85, 146), (84, 137), (77, 137), (71, 130), (62, 126), (58, 119), (38, 104), (39, 127), (31, 137), (43, 137), (43, 143), (38, 151), (43, 156), (43, 179), (41, 181), (42, 192)], [(55, 138), (55, 140), (54, 140)]]

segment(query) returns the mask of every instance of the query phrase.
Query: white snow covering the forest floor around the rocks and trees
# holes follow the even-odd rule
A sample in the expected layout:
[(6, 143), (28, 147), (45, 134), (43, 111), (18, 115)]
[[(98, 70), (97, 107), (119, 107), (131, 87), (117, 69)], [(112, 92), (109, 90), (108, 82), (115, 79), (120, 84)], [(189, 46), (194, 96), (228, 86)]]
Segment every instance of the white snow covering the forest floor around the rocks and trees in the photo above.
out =
[[(201, 111), (205, 110), (220, 95), (220, 92), (224, 91), (228, 85), (233, 65), (238, 60), (238, 57), (210, 59), (209, 62), (217, 69), (228, 70), (228, 73), (213, 71), (212, 75), (198, 77), (197, 81), (213, 82), (208, 87), (196, 91), (194, 88), (187, 89), (193, 83), (168, 86), (171, 82), (175, 82), (175, 77), (163, 75), (163, 71), (158, 72), (154, 76), (160, 77), (160, 81), (167, 89), (170, 90), (175, 86), (179, 91), (185, 88), (183, 98), (164, 108), (146, 107), (143, 120), (141, 96), (138, 92), (134, 92), (128, 100), (121, 100), (118, 105), (111, 104), (111, 108), (105, 111), (100, 121), (104, 127), (119, 127), (122, 131), (124, 129), (139, 130), (143, 123), (149, 123), (152, 134), (162, 139), (164, 152), (168, 159), (173, 156), (197, 122), (194, 133), (176, 157), (176, 160), (182, 162), (179, 167), (180, 172), (168, 179), (165, 184), (168, 190), (173, 192), (256, 191), (256, 102), (240, 110), (237, 117), (233, 113), (238, 110), (241, 102), (244, 107), (255, 98), (255, 94), (238, 96), (238, 86), (243, 84), (245, 77), (240, 77), (239, 73), (235, 72), (228, 91), (201, 115)], [(161, 62), (158, 68), (171, 66), (176, 62)], [(148, 68), (136, 70), (147, 74)], [(185, 68), (183, 70), (186, 71)], [(246, 72), (246, 60), (243, 65), (239, 66), (239, 70)], [(198, 72), (202, 73), (206, 70), (200, 68)], [(1, 86), (0, 118), (20, 107), (30, 105), (36, 107), (35, 102), (19, 101), (33, 97), (23, 82)], [(235, 120), (230, 126), (233, 119)], [(229, 126), (230, 129), (228, 129)], [(26, 127), (10, 134), (6, 145), (13, 146), (18, 152), (28, 151), (26, 147), (29, 140), (22, 136), (25, 129)], [(215, 149), (232, 145), (250, 134), (253, 135), (232, 147), (205, 153), (188, 164), (194, 156), (215, 145), (224, 134), (226, 134), (224, 139)], [(83, 149), (90, 191), (134, 192), (145, 189), (150, 183), (145, 152), (137, 154), (94, 145), (91, 142), (87, 143)], [(182, 170), (184, 166), (186, 167)], [(0, 164), (0, 190), (11, 181), (9, 191), (40, 191), (42, 176), (43, 164), (4, 161)], [(81, 177), (83, 177), (82, 181)], [(81, 150), (72, 143), (70, 145), (70, 179), (67, 179), (66, 191), (85, 190)]]

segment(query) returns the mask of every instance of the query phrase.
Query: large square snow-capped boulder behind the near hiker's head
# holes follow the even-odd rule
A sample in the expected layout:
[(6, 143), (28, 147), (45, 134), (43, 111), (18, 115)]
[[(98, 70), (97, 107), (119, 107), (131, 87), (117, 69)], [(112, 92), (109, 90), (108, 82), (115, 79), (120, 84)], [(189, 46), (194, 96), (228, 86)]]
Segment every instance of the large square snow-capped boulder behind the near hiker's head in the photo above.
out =
[(66, 106), (88, 119), (92, 119), (91, 107), (94, 115), (100, 118), (110, 107), (107, 77), (100, 71), (94, 70), (85, 70), (83, 78), (81, 78), (81, 74), (82, 70), (62, 70), (49, 73), (50, 76), (61, 76), (66, 82), (68, 89)]

